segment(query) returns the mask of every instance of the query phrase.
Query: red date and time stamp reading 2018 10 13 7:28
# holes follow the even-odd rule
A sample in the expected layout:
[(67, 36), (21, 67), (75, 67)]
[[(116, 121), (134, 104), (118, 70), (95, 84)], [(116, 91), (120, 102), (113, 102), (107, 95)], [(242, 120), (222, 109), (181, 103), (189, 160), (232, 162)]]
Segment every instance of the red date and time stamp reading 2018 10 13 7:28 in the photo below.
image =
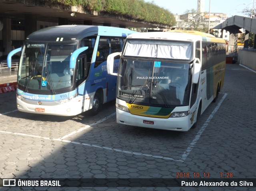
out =
[[(210, 178), (209, 172), (176, 172), (176, 178)], [(220, 178), (233, 178), (232, 172), (220, 172)]]

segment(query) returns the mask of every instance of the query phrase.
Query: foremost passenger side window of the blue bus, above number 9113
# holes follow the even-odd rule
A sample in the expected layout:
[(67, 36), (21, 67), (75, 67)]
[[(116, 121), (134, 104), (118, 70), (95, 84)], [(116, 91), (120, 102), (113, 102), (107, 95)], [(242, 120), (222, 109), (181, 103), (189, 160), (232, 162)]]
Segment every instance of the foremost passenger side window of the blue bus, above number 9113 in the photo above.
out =
[(100, 37), (94, 68), (106, 61), (110, 54), (110, 38)]

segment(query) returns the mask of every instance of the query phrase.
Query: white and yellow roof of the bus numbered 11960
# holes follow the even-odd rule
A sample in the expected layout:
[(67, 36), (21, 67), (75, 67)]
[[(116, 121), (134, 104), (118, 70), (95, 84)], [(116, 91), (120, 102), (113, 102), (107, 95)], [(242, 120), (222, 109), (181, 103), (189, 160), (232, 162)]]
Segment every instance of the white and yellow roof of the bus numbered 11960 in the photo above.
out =
[(145, 32), (134, 33), (128, 36), (128, 39), (161, 39), (161, 40), (178, 40), (178, 41), (209, 41), (225, 43), (222, 38), (216, 38), (214, 35), (210, 35), (202, 32), (189, 32), (189, 31), (168, 31), (168, 32)]

